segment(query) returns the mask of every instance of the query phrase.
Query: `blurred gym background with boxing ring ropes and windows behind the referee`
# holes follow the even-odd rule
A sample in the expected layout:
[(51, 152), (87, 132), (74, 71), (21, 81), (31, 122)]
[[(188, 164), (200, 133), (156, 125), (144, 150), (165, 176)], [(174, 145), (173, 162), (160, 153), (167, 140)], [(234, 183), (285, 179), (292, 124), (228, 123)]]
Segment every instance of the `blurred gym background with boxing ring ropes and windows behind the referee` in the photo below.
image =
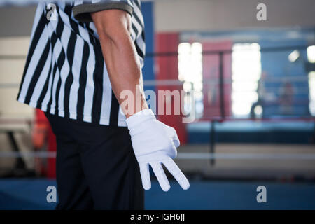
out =
[[(267, 20), (257, 18), (259, 3)], [(191, 186), (172, 181), (164, 193), (153, 181), (146, 209), (315, 209), (314, 8), (313, 0), (142, 1), (145, 90), (183, 90), (185, 113), (195, 111), (191, 123), (158, 116), (179, 134), (176, 163)], [(56, 206), (46, 201), (55, 137), (41, 111), (16, 101), (35, 9), (0, 1), (0, 209)]]

